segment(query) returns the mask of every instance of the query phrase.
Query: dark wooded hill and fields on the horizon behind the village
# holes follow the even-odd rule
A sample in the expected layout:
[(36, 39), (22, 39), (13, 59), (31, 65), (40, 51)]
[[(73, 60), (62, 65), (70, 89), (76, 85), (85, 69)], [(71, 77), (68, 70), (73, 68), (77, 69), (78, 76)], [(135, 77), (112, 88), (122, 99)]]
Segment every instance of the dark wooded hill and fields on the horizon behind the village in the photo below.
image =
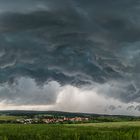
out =
[[(140, 117), (123, 115), (106, 115), (81, 112), (63, 112), (63, 111), (33, 111), (33, 110), (6, 110), (0, 111), (0, 123), (17, 123), (16, 119), (38, 119), (38, 123), (43, 123), (43, 119), (51, 118), (88, 118), (88, 123), (99, 122), (123, 122), (140, 121)], [(72, 122), (67, 122), (72, 123)]]

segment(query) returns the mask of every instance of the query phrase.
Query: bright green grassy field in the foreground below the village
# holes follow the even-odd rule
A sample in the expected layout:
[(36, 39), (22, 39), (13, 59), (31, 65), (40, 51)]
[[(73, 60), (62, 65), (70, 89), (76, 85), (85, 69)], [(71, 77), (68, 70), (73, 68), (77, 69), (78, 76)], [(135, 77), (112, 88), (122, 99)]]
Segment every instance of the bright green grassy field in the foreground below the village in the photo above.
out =
[(1, 124), (0, 140), (140, 140), (140, 122)]

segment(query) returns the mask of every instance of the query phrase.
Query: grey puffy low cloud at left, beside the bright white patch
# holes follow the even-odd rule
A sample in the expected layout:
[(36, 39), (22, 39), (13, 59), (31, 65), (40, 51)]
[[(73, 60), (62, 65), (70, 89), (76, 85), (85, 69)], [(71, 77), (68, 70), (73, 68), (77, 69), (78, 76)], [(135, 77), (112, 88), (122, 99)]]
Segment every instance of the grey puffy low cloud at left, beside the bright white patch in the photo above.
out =
[(11, 105), (50, 105), (56, 102), (60, 89), (55, 81), (39, 87), (33, 79), (20, 78), (0, 86), (0, 101)]

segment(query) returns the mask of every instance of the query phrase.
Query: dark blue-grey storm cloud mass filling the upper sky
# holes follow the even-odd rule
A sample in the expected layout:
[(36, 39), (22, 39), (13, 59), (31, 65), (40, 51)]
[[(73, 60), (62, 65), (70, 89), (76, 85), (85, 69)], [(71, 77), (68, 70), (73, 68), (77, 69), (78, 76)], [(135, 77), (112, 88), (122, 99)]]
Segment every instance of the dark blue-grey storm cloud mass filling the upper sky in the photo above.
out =
[(30, 77), (140, 101), (138, 0), (0, 0), (0, 82)]

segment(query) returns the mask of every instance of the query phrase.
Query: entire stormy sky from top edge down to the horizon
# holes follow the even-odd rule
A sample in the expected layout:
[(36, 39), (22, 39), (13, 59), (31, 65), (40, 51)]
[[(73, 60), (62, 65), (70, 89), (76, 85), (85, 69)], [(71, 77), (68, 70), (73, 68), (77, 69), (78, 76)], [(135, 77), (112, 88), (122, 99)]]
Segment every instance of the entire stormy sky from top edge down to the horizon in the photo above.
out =
[(140, 115), (139, 0), (0, 0), (0, 110)]

